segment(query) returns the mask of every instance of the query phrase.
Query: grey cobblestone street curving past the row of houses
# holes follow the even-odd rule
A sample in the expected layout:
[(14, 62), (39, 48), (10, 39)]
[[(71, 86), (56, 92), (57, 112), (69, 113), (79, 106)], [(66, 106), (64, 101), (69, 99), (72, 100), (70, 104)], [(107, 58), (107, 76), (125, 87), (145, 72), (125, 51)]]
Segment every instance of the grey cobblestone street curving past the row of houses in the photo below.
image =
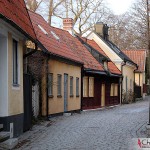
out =
[(24, 133), (17, 150), (127, 150), (146, 137), (150, 97), (103, 110), (55, 117)]

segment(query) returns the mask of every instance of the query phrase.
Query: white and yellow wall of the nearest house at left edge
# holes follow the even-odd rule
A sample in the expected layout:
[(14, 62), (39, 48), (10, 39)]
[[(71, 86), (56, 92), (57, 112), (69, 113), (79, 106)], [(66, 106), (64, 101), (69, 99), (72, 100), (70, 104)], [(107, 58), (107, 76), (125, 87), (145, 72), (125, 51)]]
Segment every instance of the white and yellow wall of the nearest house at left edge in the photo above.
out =
[[(19, 42), (19, 84), (12, 85), (12, 38)], [(0, 117), (23, 113), (23, 40), (24, 36), (0, 19)]]

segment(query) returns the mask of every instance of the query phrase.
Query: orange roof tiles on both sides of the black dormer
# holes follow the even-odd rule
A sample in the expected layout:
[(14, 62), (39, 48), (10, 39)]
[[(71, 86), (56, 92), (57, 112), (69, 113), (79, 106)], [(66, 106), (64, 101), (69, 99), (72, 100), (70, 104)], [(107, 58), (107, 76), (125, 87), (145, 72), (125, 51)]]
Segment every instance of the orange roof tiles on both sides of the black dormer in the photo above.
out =
[[(88, 43), (91, 47), (96, 49), (98, 52), (108, 57), (106, 53), (99, 47), (99, 45), (94, 40), (89, 40), (84, 38), (84, 41), (86, 41), (86, 43)], [(116, 67), (116, 65), (112, 61), (108, 62), (108, 69), (111, 73), (121, 74), (121, 71)]]

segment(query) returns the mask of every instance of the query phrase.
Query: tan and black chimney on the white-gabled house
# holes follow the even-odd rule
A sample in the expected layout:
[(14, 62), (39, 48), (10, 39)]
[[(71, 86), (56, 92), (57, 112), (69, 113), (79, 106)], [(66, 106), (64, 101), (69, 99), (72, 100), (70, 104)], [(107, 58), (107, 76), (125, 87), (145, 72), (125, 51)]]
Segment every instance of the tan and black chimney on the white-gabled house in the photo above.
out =
[(104, 40), (109, 39), (108, 29), (109, 27), (107, 26), (107, 24), (104, 24), (103, 22), (97, 22), (95, 24), (95, 32), (100, 35)]

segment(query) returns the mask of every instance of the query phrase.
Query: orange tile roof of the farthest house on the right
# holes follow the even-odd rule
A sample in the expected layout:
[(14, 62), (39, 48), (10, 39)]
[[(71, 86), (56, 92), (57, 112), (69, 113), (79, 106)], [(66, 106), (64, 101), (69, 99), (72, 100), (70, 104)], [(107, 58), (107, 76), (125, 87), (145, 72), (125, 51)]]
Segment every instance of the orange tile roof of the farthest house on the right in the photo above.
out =
[(145, 71), (145, 61), (146, 61), (146, 50), (123, 50), (123, 52), (138, 65), (139, 72)]

